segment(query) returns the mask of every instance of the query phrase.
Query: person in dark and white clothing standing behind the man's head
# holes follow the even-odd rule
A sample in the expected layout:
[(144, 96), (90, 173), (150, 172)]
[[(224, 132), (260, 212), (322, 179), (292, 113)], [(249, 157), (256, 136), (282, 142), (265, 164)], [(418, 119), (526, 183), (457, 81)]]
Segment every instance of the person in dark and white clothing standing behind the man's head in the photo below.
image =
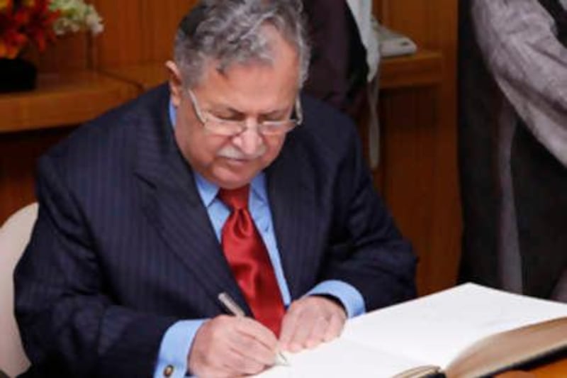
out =
[(378, 165), (378, 22), (371, 0), (304, 0), (312, 55), (305, 93), (357, 122), (372, 169)]

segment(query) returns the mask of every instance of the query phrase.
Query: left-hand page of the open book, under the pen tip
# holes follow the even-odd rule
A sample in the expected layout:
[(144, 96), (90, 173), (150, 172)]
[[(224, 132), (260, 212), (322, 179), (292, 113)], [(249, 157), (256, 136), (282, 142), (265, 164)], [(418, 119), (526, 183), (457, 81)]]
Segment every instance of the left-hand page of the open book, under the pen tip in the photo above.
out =
[(423, 365), (418, 361), (371, 349), (344, 338), (322, 344), (313, 350), (285, 355), (288, 366), (272, 367), (257, 377), (392, 377), (399, 372)]

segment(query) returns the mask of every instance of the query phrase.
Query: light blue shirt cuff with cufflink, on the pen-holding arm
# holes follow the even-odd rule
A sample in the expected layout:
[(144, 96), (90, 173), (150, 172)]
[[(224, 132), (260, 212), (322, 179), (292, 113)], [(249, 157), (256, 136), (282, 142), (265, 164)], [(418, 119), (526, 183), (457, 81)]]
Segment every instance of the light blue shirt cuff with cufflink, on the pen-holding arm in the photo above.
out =
[(206, 319), (178, 321), (169, 327), (159, 346), (154, 378), (181, 378), (187, 374), (187, 357), (193, 339)]

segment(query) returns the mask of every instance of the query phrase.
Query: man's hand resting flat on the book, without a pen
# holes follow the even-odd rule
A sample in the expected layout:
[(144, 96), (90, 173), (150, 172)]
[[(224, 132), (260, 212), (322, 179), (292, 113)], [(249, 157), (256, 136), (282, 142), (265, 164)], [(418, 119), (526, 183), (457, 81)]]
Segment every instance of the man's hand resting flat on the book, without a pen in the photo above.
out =
[(280, 348), (298, 352), (340, 335), (347, 313), (324, 296), (306, 296), (289, 306), (281, 326)]

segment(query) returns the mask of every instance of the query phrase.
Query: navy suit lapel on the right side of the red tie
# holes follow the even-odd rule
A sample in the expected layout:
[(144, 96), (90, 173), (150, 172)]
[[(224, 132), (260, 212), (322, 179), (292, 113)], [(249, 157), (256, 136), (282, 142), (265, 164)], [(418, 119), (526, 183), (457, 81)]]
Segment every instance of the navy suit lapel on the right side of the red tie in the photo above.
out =
[(319, 270), (316, 235), (321, 235), (318, 228), (322, 224), (315, 193), (315, 172), (298, 169), (298, 165), (307, 161), (290, 134), (281, 155), (266, 169), (274, 230), (292, 299), (313, 287), (314, 272)]

